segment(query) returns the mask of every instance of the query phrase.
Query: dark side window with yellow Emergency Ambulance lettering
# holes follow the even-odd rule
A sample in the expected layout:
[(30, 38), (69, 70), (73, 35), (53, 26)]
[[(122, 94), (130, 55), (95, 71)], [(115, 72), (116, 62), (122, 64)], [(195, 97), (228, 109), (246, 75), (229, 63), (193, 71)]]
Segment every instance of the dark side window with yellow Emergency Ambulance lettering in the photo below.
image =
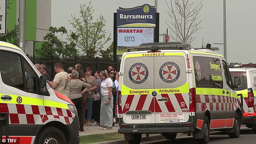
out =
[(222, 70), (219, 58), (208, 57), (212, 88), (223, 88)]

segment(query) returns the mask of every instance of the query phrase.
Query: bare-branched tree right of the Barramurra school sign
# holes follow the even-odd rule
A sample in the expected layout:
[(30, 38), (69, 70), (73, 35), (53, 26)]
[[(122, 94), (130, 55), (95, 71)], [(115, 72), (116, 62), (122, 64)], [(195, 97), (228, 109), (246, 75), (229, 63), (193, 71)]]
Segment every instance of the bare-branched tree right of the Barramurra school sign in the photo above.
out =
[(171, 38), (177, 42), (191, 43), (195, 40), (193, 33), (202, 28), (199, 27), (202, 20), (197, 22), (197, 19), (200, 17), (199, 12), (203, 7), (202, 2), (193, 7), (194, 2), (189, 4), (188, 1), (189, 0), (174, 0), (174, 7), (172, 0), (170, 2), (171, 6), (169, 6), (165, 0), (169, 9), (166, 13), (170, 17), (170, 19), (165, 22), (172, 33), (174, 33), (174, 35), (171, 34)]

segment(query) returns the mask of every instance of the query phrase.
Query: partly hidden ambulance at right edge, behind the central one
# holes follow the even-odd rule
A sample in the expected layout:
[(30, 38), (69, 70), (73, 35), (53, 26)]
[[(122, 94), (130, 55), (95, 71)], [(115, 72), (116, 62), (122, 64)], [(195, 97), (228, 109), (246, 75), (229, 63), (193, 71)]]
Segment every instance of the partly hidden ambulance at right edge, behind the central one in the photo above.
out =
[(256, 64), (230, 66), (231, 76), (241, 79), (237, 94), (243, 94), (243, 124), (256, 134)]

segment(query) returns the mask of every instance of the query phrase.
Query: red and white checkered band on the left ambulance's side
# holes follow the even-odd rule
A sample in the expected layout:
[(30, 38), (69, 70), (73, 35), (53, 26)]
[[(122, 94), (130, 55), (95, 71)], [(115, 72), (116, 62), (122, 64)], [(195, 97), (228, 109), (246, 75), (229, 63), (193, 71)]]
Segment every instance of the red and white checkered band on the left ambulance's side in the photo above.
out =
[(75, 118), (69, 109), (49, 106), (0, 103), (0, 109), (1, 113), (9, 113), (9, 124), (43, 124), (52, 119), (70, 124)]

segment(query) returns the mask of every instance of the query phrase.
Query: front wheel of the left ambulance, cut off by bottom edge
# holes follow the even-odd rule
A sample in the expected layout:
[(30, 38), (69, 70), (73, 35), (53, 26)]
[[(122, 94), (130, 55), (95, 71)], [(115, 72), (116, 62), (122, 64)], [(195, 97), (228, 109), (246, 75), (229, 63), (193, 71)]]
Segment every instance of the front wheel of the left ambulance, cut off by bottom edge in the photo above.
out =
[(56, 127), (46, 127), (40, 131), (37, 144), (67, 144), (66, 138), (61, 130)]

